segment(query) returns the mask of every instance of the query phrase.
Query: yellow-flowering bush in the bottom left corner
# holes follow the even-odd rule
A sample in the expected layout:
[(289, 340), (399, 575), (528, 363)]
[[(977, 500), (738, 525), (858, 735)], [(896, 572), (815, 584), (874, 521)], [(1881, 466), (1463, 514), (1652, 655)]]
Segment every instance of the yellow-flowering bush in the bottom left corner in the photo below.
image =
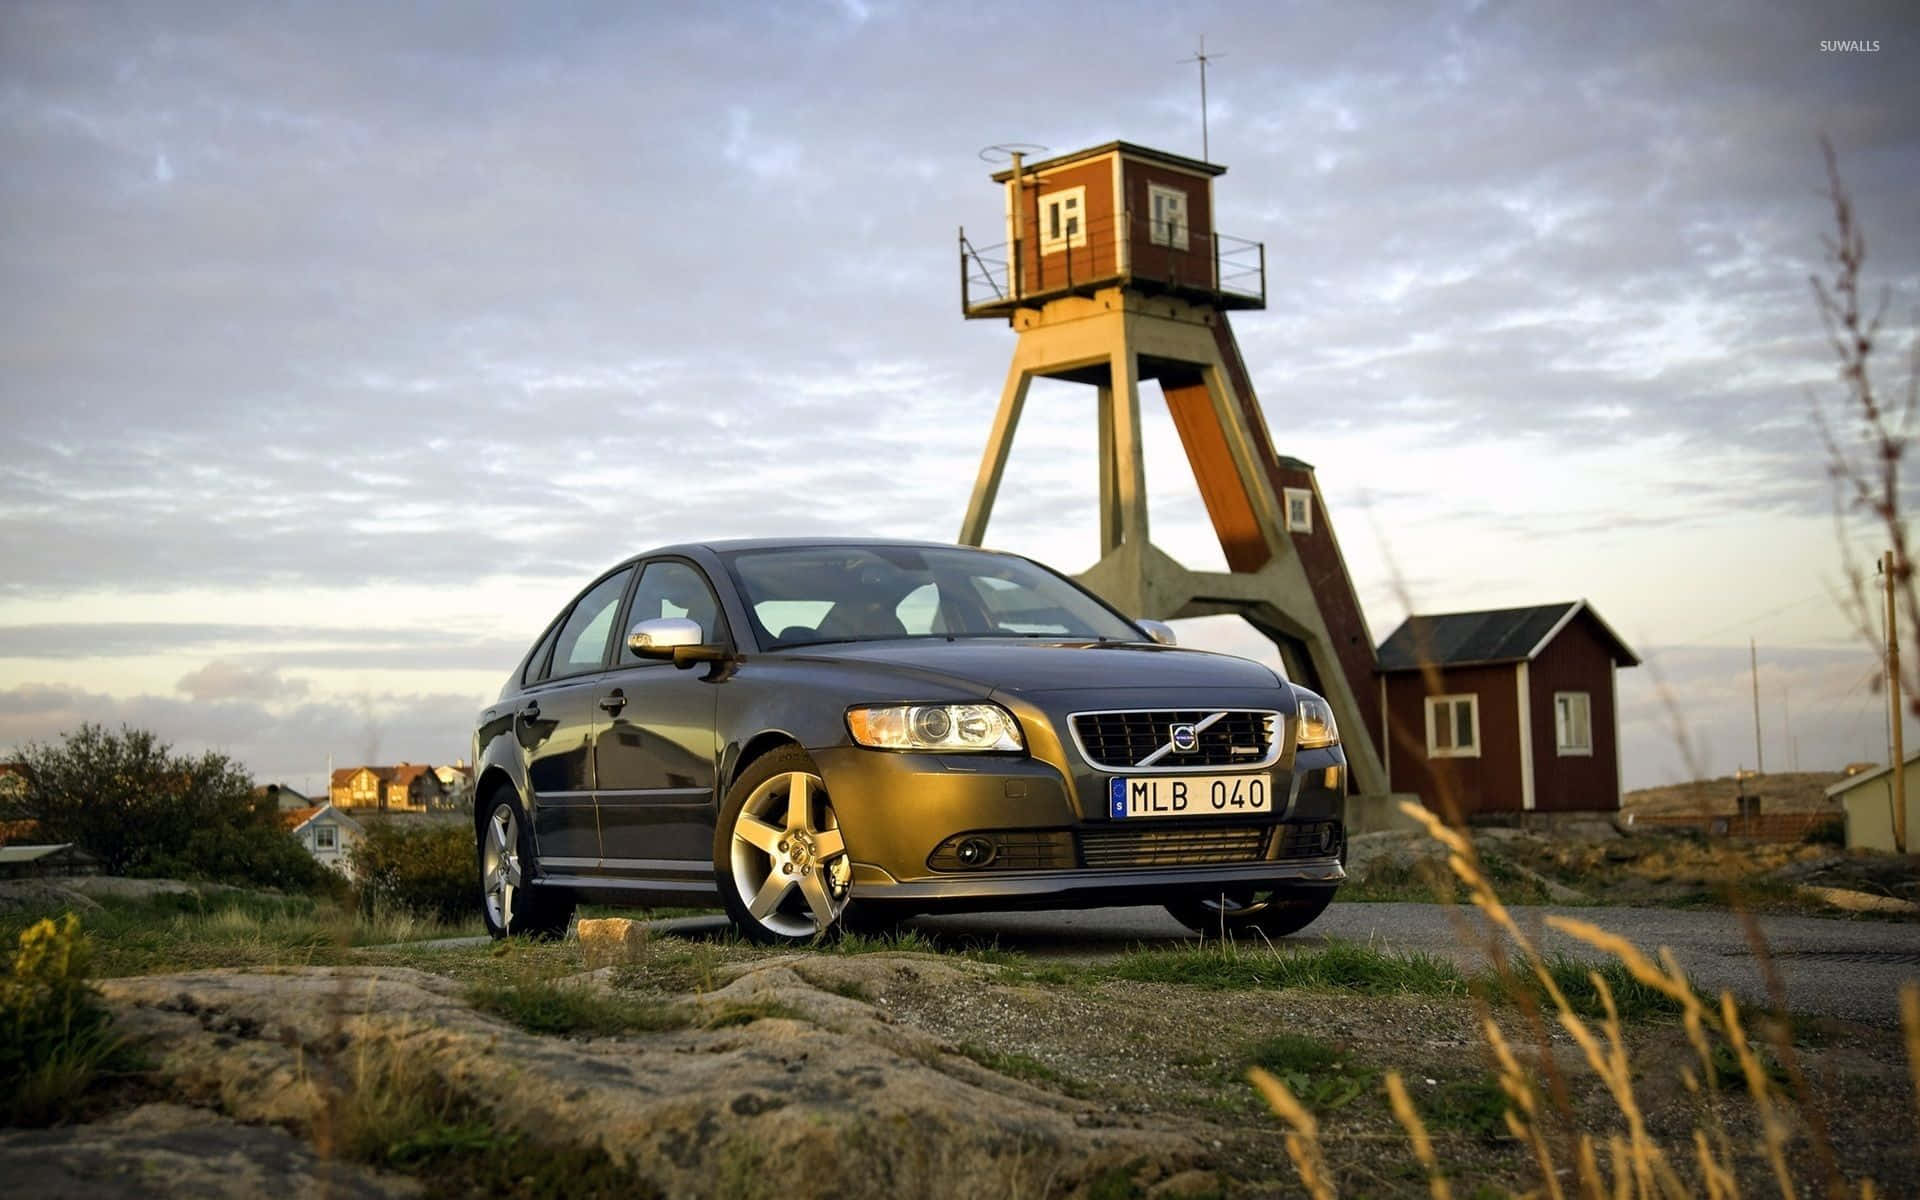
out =
[(31, 925), (0, 964), (0, 1125), (69, 1116), (119, 1052), (100, 993), (86, 983), (79, 918)]

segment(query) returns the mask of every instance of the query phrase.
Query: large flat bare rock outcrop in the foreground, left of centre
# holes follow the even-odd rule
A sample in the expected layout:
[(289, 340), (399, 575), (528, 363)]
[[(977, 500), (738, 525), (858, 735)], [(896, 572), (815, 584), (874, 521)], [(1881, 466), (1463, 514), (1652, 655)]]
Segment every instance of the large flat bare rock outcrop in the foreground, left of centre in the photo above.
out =
[[(119, 1027), (182, 1098), (315, 1129), (369, 1054), (401, 1056), (538, 1139), (599, 1144), (662, 1192), (1062, 1196), (1206, 1165), (1185, 1131), (1008, 1079), (860, 998), (916, 956), (791, 956), (741, 970), (712, 1029), (536, 1037), (422, 972), (194, 972), (106, 981)], [(603, 972), (605, 973), (605, 972)], [(760, 1016), (781, 1012), (793, 1016)], [(743, 1021), (743, 1023), (737, 1023)], [(730, 1183), (732, 1181), (732, 1183)]]

